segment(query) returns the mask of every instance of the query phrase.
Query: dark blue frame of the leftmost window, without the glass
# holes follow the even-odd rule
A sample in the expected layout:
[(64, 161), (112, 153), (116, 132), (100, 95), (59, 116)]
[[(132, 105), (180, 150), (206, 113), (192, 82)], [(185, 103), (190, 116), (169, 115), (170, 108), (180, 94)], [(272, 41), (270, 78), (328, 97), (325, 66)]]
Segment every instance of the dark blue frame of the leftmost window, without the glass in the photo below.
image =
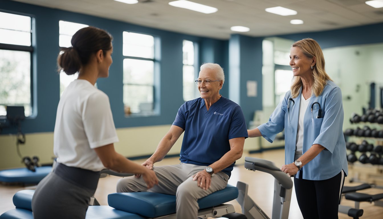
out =
[[(34, 119), (37, 116), (37, 105), (35, 102), (35, 96), (36, 93), (34, 92), (34, 55), (35, 55), (35, 48), (36, 48), (36, 20), (35, 16), (28, 14), (28, 13), (21, 13), (21, 12), (14, 12), (14, 11), (8, 11), (8, 10), (2, 10), (0, 9), (0, 12), (3, 13), (8, 13), (8, 14), (14, 14), (14, 15), (21, 15), (21, 16), (28, 16), (31, 18), (31, 45), (30, 46), (22, 46), (22, 45), (16, 45), (16, 44), (7, 44), (7, 43), (0, 43), (0, 49), (2, 50), (11, 50), (11, 51), (23, 51), (23, 52), (29, 52), (30, 54), (30, 65), (29, 65), (29, 92), (31, 96), (31, 102), (30, 102), (30, 107), (31, 107), (31, 114), (26, 116), (26, 118)], [(4, 105), (0, 103), (1, 105)], [(8, 105), (8, 104), (5, 104)], [(15, 104), (13, 104), (15, 105)], [(20, 104), (16, 104), (20, 105)], [(0, 115), (0, 119), (6, 118), (7, 115)]]

